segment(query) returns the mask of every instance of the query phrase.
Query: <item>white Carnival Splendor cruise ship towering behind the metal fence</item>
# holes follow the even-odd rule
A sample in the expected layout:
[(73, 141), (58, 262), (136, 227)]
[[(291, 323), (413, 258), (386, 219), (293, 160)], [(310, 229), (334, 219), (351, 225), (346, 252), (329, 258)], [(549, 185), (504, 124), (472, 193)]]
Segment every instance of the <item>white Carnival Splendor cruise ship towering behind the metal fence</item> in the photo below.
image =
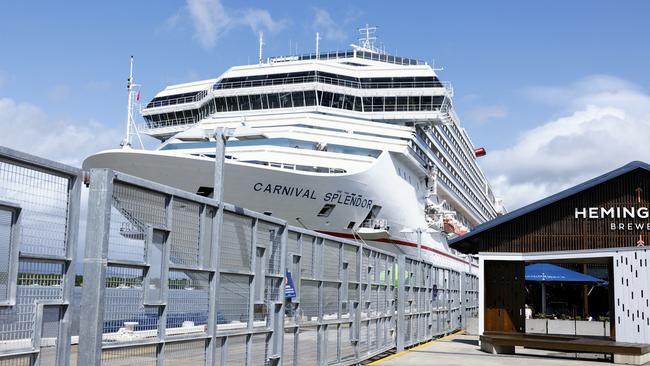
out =
[(467, 270), (447, 240), (504, 211), (477, 164), (485, 150), (460, 126), (451, 84), (380, 50), (375, 30), (346, 51), (318, 51), (317, 36), (315, 53), (270, 58), (260, 39), (257, 64), (170, 85), (143, 105), (139, 132), (160, 140), (155, 150), (102, 151), (84, 168), (210, 196), (214, 131), (247, 131), (226, 144), (226, 202)]

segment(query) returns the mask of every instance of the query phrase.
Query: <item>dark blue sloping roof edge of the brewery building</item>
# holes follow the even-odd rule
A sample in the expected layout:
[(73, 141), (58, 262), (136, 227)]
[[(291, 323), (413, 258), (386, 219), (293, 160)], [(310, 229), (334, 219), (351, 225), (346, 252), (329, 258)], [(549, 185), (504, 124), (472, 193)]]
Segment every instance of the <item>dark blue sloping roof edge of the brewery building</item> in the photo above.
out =
[(552, 196), (548, 196), (548, 197), (543, 198), (543, 199), (541, 199), (541, 200), (539, 200), (537, 202), (531, 203), (530, 205), (521, 207), (521, 208), (519, 208), (519, 209), (517, 209), (515, 211), (512, 211), (512, 212), (509, 212), (509, 213), (507, 213), (507, 214), (505, 214), (503, 216), (499, 216), (499, 217), (495, 218), (494, 220), (491, 220), (491, 221), (485, 222), (485, 223), (483, 223), (481, 225), (478, 225), (472, 231), (470, 231), (469, 233), (450, 240), (449, 241), (449, 246), (453, 247), (454, 249), (460, 250), (461, 246), (463, 246), (463, 244), (465, 244), (466, 241), (468, 241), (470, 239), (473, 239), (474, 237), (476, 237), (477, 235), (479, 235), (480, 233), (482, 233), (482, 232), (484, 232), (486, 230), (492, 229), (492, 228), (494, 228), (496, 226), (499, 226), (499, 225), (504, 224), (504, 223), (506, 223), (508, 221), (511, 221), (511, 220), (513, 220), (513, 219), (515, 219), (517, 217), (520, 217), (520, 216), (523, 216), (523, 215), (528, 214), (530, 212), (536, 211), (536, 210), (538, 210), (538, 209), (540, 209), (540, 208), (542, 208), (544, 206), (548, 206), (548, 205), (550, 205), (552, 203), (555, 203), (557, 201), (560, 201), (562, 199), (570, 197), (570, 196), (572, 196), (572, 195), (574, 195), (576, 193), (582, 192), (584, 190), (587, 190), (587, 189), (592, 188), (594, 186), (597, 186), (597, 185), (599, 185), (601, 183), (612, 180), (612, 179), (614, 179), (616, 177), (619, 177), (619, 176), (621, 176), (623, 174), (629, 173), (629, 172), (631, 172), (633, 170), (636, 170), (636, 169), (644, 169), (644, 170), (650, 171), (650, 164), (644, 163), (642, 161), (633, 161), (633, 162), (630, 162), (628, 164), (625, 164), (624, 166), (622, 166), (622, 167), (620, 167), (618, 169), (612, 170), (609, 173), (605, 173), (605, 174), (603, 174), (601, 176), (598, 176), (598, 177), (590, 179), (590, 180), (588, 180), (586, 182), (580, 183), (580, 184), (578, 184), (578, 185), (576, 185), (574, 187), (571, 187), (571, 188), (565, 189), (564, 191), (558, 192), (558, 193), (556, 193), (556, 194), (554, 194)]

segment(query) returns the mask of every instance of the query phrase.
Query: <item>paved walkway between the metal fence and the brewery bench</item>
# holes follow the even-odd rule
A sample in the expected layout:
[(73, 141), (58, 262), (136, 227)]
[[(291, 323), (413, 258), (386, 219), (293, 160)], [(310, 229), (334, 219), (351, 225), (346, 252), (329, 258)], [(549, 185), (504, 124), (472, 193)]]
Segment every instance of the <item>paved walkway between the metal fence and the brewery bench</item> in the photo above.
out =
[[(515, 355), (491, 355), (481, 352), (477, 336), (453, 335), (375, 361), (371, 365), (380, 366), (604, 366), (602, 355), (581, 355), (558, 353), (517, 347)], [(600, 360), (595, 359), (599, 357)]]

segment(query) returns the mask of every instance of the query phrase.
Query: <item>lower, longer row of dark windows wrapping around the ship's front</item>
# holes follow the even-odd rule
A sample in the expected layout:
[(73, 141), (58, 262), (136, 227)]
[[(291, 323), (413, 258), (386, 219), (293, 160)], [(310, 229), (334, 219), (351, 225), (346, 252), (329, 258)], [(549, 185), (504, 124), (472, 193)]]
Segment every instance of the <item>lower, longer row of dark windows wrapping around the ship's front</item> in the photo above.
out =
[[(287, 93), (253, 94), (213, 98), (198, 109), (144, 116), (150, 128), (163, 127), (167, 122), (186, 119), (194, 123), (215, 112), (236, 112), (260, 109), (292, 108), (321, 105), (357, 112), (396, 112), (439, 110), (444, 96), (382, 96), (358, 97), (323, 91), (294, 91)], [(162, 122), (162, 124), (159, 124)]]

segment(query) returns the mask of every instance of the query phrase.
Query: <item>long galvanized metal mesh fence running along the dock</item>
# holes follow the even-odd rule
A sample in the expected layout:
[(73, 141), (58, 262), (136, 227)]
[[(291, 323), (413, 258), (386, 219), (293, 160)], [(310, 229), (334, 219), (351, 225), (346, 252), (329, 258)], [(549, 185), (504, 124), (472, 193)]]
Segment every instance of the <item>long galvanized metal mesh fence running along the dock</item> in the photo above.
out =
[(16, 269), (0, 264), (0, 366), (358, 364), (460, 329), (478, 303), (471, 274), (100, 169), (71, 347), (80, 172), (0, 154), (7, 258), (3, 225), (21, 228)]

